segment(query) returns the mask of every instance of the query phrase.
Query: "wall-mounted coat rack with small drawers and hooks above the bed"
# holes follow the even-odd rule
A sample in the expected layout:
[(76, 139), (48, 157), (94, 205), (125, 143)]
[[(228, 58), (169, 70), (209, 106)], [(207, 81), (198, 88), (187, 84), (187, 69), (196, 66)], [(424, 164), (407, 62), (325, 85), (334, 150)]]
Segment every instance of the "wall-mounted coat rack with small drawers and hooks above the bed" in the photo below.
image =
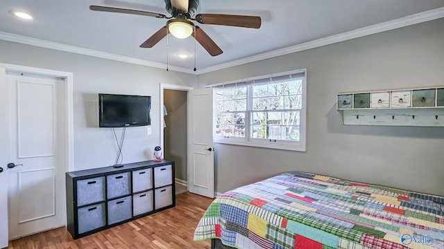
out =
[(444, 86), (339, 93), (343, 124), (444, 127)]

